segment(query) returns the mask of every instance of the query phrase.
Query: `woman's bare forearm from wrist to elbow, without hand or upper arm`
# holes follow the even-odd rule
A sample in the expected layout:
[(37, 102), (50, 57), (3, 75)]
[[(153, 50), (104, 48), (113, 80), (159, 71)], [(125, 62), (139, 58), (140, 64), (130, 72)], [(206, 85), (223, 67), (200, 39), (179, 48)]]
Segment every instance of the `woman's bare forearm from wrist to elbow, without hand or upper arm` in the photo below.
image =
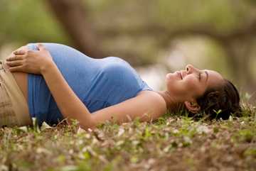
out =
[(65, 118), (75, 118), (80, 122), (83, 128), (95, 126), (92, 115), (87, 107), (80, 101), (78, 96), (73, 92), (68, 83), (65, 81), (60, 70), (51, 62), (41, 74), (46, 80), (46, 84), (55, 99), (61, 114)]

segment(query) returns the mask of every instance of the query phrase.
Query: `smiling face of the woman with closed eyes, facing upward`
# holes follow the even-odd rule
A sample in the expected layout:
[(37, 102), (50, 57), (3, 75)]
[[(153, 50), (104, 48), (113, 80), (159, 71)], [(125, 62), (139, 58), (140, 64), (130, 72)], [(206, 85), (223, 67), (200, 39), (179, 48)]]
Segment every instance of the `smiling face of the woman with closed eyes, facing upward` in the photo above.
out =
[(202, 96), (206, 89), (218, 86), (223, 77), (213, 70), (199, 70), (193, 65), (187, 65), (185, 70), (168, 73), (166, 88), (176, 101), (191, 101)]

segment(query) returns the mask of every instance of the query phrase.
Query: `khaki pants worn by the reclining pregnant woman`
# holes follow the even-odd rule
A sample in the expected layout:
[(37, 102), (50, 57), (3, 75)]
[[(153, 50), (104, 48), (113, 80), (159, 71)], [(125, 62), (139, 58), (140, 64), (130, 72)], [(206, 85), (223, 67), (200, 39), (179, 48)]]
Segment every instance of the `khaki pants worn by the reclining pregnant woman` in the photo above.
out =
[(31, 124), (26, 99), (4, 61), (0, 60), (0, 128)]

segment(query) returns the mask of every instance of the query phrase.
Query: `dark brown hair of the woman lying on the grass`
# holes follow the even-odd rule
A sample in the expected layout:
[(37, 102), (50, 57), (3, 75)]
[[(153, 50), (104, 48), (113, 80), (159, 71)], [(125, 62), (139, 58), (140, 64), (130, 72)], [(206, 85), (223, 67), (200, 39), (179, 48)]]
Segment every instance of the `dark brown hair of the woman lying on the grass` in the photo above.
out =
[(218, 87), (206, 89), (203, 96), (198, 97), (196, 101), (201, 106), (201, 111), (198, 114), (189, 113), (188, 116), (228, 119), (230, 114), (241, 115), (238, 89), (228, 79), (224, 79), (224, 83)]

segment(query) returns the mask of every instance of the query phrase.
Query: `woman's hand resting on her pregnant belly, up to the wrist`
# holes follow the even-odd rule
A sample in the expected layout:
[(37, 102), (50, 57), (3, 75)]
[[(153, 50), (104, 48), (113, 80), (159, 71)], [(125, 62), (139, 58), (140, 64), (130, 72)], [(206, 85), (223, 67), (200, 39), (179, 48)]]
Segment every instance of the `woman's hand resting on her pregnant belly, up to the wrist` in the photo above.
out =
[(52, 65), (53, 57), (42, 44), (38, 44), (38, 50), (16, 50), (14, 55), (6, 59), (6, 65), (11, 72), (26, 72), (41, 75), (48, 66)]

